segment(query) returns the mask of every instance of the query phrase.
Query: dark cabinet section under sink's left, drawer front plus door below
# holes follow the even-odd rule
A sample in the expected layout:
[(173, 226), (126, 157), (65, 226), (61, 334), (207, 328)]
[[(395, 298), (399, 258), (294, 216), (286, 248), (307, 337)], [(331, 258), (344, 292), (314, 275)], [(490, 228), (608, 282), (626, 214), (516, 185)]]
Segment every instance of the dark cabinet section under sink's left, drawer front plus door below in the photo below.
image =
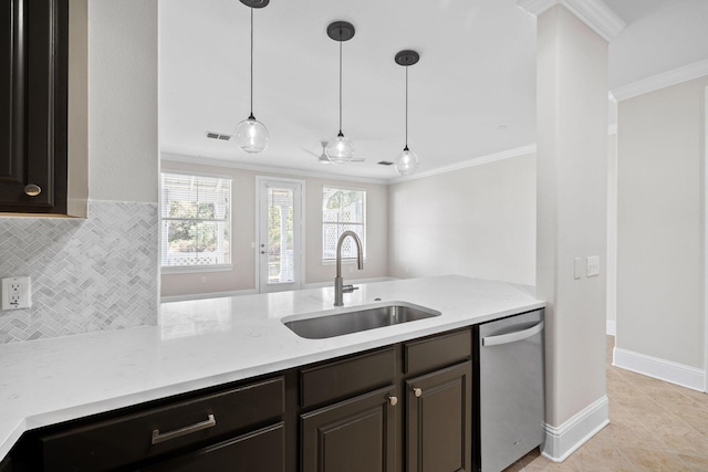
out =
[(301, 369), (302, 472), (394, 472), (395, 346)]

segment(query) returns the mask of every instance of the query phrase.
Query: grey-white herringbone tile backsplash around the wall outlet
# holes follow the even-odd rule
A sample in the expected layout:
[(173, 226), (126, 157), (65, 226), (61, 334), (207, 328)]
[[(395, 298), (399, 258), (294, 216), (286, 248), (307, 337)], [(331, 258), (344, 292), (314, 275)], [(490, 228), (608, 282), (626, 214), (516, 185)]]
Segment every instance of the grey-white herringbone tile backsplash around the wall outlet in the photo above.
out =
[(157, 324), (157, 231), (156, 203), (0, 217), (0, 279), (32, 277), (32, 307), (0, 311), (0, 344)]

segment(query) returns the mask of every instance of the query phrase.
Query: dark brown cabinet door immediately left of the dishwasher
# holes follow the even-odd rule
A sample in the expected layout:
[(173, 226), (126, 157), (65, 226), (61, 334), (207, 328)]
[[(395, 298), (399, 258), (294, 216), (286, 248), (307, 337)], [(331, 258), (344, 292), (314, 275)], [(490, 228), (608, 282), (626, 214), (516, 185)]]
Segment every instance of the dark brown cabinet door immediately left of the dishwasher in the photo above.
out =
[(406, 470), (472, 470), (472, 365), (458, 364), (406, 381)]

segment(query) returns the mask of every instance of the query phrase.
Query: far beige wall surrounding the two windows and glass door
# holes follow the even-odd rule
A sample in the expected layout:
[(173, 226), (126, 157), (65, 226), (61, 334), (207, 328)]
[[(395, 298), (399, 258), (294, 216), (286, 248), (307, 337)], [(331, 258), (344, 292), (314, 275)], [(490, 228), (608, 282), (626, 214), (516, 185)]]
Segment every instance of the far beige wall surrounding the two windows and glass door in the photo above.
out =
[[(185, 170), (215, 175), (226, 175), (233, 179), (233, 269), (225, 272), (191, 272), (163, 274), (162, 296), (179, 296), (188, 294), (223, 293), (256, 289), (256, 176), (296, 178), (305, 181), (304, 219), (305, 219), (305, 280), (304, 283), (331, 282), (335, 268), (322, 264), (322, 186), (324, 183), (361, 188), (366, 190), (366, 261), (364, 270), (350, 273), (344, 269), (345, 280), (376, 279), (387, 275), (387, 239), (388, 239), (388, 201), (386, 186), (361, 183), (336, 179), (300, 177), (262, 172), (233, 167), (207, 166), (181, 161), (163, 160), (163, 170)], [(206, 283), (201, 276), (206, 275)]]

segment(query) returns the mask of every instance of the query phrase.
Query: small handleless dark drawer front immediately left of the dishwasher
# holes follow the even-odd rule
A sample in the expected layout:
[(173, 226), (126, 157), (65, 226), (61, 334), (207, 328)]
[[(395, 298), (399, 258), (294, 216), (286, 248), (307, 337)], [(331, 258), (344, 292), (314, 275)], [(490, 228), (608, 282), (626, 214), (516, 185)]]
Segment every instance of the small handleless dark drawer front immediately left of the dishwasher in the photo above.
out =
[(404, 374), (416, 374), (470, 358), (472, 335), (469, 329), (412, 340), (404, 344)]

